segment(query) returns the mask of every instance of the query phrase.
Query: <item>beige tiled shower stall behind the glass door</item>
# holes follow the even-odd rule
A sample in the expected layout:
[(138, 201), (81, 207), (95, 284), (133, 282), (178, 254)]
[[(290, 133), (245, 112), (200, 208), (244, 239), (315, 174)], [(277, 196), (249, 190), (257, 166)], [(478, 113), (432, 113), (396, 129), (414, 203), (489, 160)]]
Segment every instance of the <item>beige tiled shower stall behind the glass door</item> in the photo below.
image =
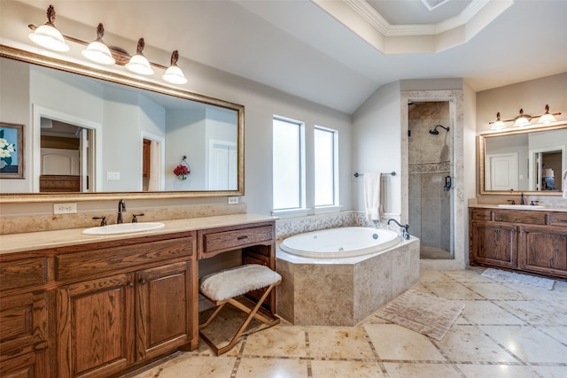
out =
[(408, 104), (408, 217), (421, 258), (454, 258), (454, 129), (448, 101)]

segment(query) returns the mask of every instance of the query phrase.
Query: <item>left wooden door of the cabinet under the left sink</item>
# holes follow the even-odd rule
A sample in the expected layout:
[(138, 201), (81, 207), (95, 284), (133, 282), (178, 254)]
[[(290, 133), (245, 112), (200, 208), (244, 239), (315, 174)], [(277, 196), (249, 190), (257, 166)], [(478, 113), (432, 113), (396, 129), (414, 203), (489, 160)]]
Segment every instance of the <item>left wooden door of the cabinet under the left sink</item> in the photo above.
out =
[(134, 275), (58, 289), (58, 376), (106, 377), (134, 362)]

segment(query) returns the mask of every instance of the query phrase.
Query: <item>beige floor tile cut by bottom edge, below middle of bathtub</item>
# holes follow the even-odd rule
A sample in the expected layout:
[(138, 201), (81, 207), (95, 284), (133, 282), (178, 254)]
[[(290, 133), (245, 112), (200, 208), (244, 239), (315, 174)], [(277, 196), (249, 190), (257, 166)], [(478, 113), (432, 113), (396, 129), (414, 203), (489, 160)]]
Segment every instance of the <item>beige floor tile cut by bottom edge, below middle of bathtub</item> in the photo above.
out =
[(369, 361), (311, 361), (313, 378), (382, 378), (377, 362)]

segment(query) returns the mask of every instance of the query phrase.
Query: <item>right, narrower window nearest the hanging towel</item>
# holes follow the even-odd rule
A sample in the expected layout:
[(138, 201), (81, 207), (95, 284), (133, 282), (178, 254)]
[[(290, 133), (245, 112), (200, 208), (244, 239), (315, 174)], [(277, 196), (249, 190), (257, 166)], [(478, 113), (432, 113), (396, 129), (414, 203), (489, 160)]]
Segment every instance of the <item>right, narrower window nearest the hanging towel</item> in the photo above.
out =
[(315, 206), (338, 203), (338, 133), (315, 127)]

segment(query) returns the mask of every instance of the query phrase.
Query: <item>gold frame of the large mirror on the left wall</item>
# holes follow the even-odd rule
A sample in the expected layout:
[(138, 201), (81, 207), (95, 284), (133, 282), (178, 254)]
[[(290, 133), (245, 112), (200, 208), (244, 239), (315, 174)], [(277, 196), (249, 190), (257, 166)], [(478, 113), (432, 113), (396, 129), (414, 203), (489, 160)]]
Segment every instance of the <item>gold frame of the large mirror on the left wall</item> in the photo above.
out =
[[(232, 197), (245, 195), (245, 106), (220, 100), (218, 98), (199, 95), (183, 89), (176, 89), (154, 81), (143, 81), (89, 66), (82, 66), (74, 62), (50, 58), (34, 52), (14, 49), (0, 44), (0, 57), (19, 60), (37, 66), (77, 73), (104, 81), (111, 81), (137, 89), (175, 96), (203, 104), (210, 104), (237, 111), (237, 189), (236, 190), (199, 190), (199, 191), (148, 191), (148, 192), (83, 192), (83, 193), (0, 193), (2, 203), (29, 203), (29, 202), (60, 202), (60, 201), (103, 201), (129, 199), (167, 199), (167, 198), (202, 198), (202, 197)], [(31, 117), (30, 117), (31, 118)], [(27, 126), (29, 127), (29, 126)]]

